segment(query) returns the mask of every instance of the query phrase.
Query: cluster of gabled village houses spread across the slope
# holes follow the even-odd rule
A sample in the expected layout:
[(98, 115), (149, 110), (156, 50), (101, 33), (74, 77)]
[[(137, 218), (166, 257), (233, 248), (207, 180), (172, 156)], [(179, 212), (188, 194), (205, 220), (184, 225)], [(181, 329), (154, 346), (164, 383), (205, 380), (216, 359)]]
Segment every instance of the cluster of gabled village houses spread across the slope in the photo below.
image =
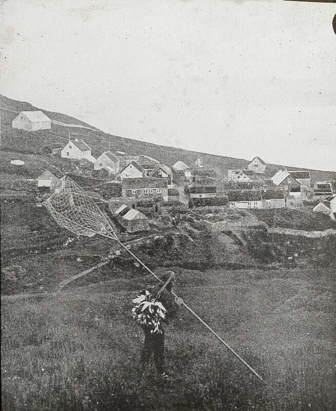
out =
[[(51, 120), (42, 111), (22, 111), (12, 120), (12, 128), (31, 133), (50, 130)], [(63, 146), (44, 146), (46, 156), (59, 159), (30, 184), (42, 201), (62, 184), (65, 176), (77, 176), (91, 184), (88, 192), (104, 204), (117, 225), (129, 233), (149, 230), (148, 217), (164, 207), (229, 207), (233, 210), (296, 209), (311, 204), (313, 212), (336, 216), (336, 182), (311, 182), (309, 170), (282, 167), (274, 173), (262, 158), (254, 157), (244, 169), (219, 173), (198, 158), (193, 164), (176, 159), (165, 164), (146, 153), (129, 154), (110, 148), (96, 157), (83, 139), (71, 136)], [(15, 160), (12, 160), (15, 164)], [(22, 164), (16, 162), (16, 166)], [(76, 180), (76, 179), (75, 179)], [(246, 214), (247, 213), (247, 214)], [(180, 213), (174, 220), (180, 218)], [(253, 215), (251, 215), (253, 221)], [(255, 218), (254, 218), (255, 220)]]

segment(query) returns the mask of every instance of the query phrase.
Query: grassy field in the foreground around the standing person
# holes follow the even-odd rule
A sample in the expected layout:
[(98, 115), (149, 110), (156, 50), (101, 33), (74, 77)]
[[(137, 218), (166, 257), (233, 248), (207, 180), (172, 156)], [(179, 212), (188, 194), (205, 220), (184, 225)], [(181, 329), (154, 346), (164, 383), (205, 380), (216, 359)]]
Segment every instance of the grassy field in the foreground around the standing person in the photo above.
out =
[(332, 410), (333, 269), (180, 270), (181, 295), (267, 381), (181, 309), (167, 372), (141, 379), (130, 300), (152, 280), (116, 278), (2, 297), (3, 410)]

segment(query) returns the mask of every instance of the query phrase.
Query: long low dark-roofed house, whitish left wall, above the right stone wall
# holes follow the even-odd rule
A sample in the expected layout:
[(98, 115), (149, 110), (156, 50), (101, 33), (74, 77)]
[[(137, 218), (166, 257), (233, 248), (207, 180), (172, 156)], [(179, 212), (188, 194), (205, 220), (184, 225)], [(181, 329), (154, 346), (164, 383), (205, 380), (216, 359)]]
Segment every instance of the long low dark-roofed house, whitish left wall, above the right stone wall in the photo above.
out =
[(239, 209), (285, 208), (286, 200), (283, 190), (247, 190), (230, 191), (229, 206)]

